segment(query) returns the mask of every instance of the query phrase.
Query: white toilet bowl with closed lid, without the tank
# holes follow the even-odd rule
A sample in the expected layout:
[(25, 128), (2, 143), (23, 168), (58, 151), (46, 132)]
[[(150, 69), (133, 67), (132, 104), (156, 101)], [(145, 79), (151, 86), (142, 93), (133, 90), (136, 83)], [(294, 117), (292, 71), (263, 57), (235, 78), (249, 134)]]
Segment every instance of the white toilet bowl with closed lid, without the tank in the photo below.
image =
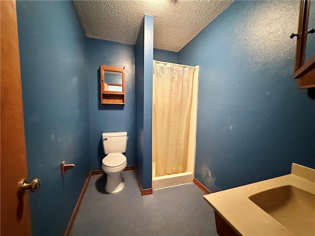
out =
[(102, 160), (102, 169), (107, 174), (105, 191), (118, 193), (123, 190), (125, 183), (122, 172), (127, 166), (127, 158), (121, 152), (109, 153)]

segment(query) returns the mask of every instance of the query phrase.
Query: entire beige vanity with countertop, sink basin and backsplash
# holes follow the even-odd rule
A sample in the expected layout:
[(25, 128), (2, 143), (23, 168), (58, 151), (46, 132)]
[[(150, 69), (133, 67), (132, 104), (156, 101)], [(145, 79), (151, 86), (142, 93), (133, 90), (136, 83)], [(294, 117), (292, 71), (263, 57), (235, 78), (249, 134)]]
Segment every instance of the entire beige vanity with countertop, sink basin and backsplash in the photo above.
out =
[(204, 198), (219, 235), (315, 236), (315, 169), (292, 163), (291, 174)]

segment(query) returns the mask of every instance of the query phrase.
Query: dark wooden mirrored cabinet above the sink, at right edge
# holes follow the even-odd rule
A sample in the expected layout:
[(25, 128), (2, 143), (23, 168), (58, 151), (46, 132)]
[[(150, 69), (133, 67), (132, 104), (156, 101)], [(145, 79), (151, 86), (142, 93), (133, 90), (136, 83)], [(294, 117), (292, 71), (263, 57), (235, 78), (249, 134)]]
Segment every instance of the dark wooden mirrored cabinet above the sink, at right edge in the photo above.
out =
[(301, 0), (297, 36), (294, 78), (298, 88), (315, 87), (315, 1)]

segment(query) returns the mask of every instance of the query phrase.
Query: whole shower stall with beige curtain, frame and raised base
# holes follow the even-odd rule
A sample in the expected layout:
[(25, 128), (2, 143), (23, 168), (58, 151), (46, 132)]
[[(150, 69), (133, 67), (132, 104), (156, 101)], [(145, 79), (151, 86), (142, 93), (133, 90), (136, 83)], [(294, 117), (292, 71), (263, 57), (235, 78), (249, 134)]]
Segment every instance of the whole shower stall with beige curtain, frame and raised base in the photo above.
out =
[(193, 181), (199, 66), (154, 60), (152, 188)]

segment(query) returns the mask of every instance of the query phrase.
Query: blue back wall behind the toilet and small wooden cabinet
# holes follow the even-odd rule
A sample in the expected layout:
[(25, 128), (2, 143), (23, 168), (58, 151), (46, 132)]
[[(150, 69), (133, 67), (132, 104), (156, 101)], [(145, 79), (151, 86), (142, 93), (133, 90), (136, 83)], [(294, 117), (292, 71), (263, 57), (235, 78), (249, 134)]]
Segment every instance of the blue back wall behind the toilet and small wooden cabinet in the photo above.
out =
[[(91, 169), (101, 169), (105, 154), (103, 132), (127, 131), (127, 165), (135, 165), (135, 47), (134, 45), (87, 39), (89, 60), (89, 114)], [(125, 66), (125, 105), (100, 103), (100, 65)]]

